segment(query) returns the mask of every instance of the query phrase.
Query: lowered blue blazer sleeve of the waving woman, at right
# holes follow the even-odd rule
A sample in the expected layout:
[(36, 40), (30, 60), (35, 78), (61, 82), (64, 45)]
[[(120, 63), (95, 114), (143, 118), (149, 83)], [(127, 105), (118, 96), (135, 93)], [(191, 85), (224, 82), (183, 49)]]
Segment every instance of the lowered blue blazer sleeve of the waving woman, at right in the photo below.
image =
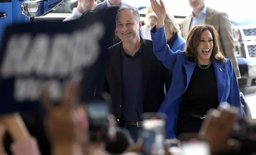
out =
[(229, 97), (227, 98), (227, 102), (239, 108), (240, 115), (242, 116), (242, 105), (241, 105), (241, 99), (240, 99), (240, 91), (237, 83), (237, 78), (235, 76), (235, 70), (232, 65), (231, 60), (227, 59), (227, 63), (230, 64), (231, 68), (231, 76), (230, 76), (230, 87), (229, 87)]

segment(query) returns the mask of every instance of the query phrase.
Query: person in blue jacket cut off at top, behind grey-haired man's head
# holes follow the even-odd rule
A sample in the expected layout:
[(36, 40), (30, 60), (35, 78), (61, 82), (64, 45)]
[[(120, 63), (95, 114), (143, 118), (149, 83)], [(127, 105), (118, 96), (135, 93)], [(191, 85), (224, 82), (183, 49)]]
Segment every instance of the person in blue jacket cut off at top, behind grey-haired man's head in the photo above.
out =
[[(129, 7), (132, 7), (132, 6), (122, 2), (122, 0), (104, 0), (104, 2), (102, 2), (102, 3), (100, 3), (96, 6), (95, 11), (99, 11), (100, 9), (107, 9), (110, 6), (129, 6)], [(133, 8), (135, 8), (135, 7), (133, 7)]]

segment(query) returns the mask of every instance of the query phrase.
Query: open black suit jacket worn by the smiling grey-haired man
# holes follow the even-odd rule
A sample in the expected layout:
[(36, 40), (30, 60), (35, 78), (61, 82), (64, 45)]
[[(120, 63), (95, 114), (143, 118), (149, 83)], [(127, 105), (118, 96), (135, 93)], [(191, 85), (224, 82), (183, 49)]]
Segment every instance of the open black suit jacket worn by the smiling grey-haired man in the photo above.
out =
[[(171, 75), (153, 54), (151, 40), (142, 38), (142, 94), (144, 112), (157, 112), (169, 90)], [(120, 125), (122, 112), (121, 42), (109, 47), (111, 58), (105, 74), (104, 91), (111, 95), (111, 113)], [(164, 85), (166, 83), (166, 87)]]

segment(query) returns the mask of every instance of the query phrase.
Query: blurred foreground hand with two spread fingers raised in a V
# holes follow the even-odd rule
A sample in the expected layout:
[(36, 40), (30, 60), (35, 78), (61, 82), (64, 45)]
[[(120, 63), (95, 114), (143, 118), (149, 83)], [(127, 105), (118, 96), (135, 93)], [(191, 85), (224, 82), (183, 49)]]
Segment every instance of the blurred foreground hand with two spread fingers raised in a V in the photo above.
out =
[(46, 127), (53, 145), (66, 146), (75, 142), (75, 123), (73, 114), (77, 102), (78, 85), (68, 83), (66, 85), (63, 100), (60, 106), (54, 106), (50, 100), (48, 90), (42, 94), (42, 103), (48, 111)]

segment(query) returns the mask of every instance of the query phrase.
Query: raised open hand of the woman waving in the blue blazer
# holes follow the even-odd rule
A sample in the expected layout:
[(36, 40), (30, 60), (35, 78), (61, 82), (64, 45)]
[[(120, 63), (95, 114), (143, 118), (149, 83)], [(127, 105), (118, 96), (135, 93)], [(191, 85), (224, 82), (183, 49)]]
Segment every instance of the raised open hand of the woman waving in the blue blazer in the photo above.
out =
[(157, 15), (158, 19), (164, 19), (166, 14), (165, 5), (163, 4), (162, 0), (160, 0), (160, 4), (157, 0), (150, 0), (151, 7), (155, 14)]

